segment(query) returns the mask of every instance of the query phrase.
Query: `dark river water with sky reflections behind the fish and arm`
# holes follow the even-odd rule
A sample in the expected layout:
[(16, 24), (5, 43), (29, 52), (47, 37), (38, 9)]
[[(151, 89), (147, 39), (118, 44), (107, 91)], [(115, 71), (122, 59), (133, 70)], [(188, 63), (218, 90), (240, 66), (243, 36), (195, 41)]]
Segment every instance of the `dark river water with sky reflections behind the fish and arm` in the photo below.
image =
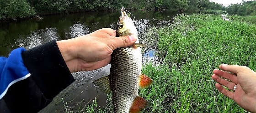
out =
[[(143, 38), (145, 38), (145, 33), (149, 27), (170, 25), (173, 19), (172, 16), (175, 16), (178, 12), (132, 11), (131, 13), (136, 17), (134, 22), (141, 42), (147, 43), (151, 39)], [(43, 16), (41, 21), (26, 20), (1, 25), (0, 56), (8, 56), (11, 50), (17, 47), (30, 49), (51, 40), (70, 39), (104, 27), (115, 29), (119, 16), (120, 12), (86, 12), (69, 15), (48, 15)], [(133, 16), (132, 19), (134, 19)], [(144, 62), (157, 59), (153, 46), (154, 44), (148, 45), (144, 49)], [(97, 91), (91, 82), (108, 75), (109, 72), (110, 65), (96, 71), (72, 73), (76, 81), (55, 97), (53, 102), (44, 108), (41, 113), (78, 112), (79, 107), (83, 108), (85, 105), (92, 103), (95, 98), (100, 107), (106, 106), (107, 95)]]

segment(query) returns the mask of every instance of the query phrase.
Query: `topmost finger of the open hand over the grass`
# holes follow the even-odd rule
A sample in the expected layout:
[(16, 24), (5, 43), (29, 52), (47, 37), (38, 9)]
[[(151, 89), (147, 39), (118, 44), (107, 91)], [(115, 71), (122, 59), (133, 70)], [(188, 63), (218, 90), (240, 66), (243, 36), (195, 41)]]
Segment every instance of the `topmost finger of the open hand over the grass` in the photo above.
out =
[(238, 65), (227, 65), (227, 64), (221, 64), (219, 66), (221, 70), (227, 71), (227, 72), (232, 72), (234, 74), (237, 74), (240, 72), (242, 69), (245, 68), (245, 66), (238, 66)]

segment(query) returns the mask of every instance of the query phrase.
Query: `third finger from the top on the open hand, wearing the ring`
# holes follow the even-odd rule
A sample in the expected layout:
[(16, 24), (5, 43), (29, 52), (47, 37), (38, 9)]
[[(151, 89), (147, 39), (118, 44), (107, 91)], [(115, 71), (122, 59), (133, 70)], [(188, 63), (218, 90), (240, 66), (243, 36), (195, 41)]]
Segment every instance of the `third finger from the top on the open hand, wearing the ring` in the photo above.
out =
[(221, 85), (228, 87), (230, 90), (233, 90), (235, 83), (234, 82), (229, 82), (223, 78), (220, 78), (219, 76), (213, 74), (212, 75), (213, 80), (215, 80), (216, 82), (219, 82)]

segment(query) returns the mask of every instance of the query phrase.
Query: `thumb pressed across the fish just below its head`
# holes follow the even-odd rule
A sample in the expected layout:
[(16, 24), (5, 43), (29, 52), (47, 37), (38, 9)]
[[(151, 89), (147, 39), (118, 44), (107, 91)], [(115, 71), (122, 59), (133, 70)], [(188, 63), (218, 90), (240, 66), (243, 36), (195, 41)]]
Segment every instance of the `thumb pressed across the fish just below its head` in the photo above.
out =
[(127, 46), (132, 46), (133, 43), (137, 40), (137, 36), (121, 36), (121, 37), (113, 37), (112, 44), (115, 46), (113, 49), (117, 49), (119, 47), (127, 47)]

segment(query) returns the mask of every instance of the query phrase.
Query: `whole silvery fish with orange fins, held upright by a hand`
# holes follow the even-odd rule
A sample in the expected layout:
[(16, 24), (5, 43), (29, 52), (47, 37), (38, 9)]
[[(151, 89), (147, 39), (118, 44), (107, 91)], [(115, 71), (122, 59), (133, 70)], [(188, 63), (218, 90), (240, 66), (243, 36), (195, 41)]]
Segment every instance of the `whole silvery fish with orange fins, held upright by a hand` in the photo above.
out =
[[(138, 32), (133, 20), (121, 9), (118, 22), (118, 36), (133, 35)], [(103, 92), (112, 92), (114, 113), (139, 113), (147, 106), (147, 101), (139, 97), (139, 88), (148, 87), (152, 80), (141, 73), (142, 54), (139, 39), (133, 46), (117, 48), (112, 53), (110, 75), (101, 77), (93, 84)]]

